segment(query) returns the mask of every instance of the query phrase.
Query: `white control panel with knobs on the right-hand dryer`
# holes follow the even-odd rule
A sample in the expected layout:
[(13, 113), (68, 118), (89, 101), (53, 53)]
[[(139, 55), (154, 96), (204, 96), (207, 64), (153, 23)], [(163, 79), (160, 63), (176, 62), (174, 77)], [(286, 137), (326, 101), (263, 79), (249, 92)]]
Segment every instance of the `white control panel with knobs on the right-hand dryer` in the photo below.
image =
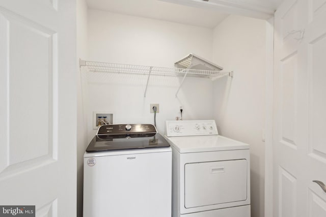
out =
[(219, 135), (219, 132), (215, 120), (167, 120), (166, 135), (207, 136)]

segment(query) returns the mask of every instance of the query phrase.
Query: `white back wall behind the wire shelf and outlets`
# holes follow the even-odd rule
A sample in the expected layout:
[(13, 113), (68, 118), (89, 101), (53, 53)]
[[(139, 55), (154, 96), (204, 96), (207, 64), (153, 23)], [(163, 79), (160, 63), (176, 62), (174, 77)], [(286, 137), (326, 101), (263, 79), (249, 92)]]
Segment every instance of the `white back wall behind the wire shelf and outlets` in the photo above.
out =
[[(89, 59), (111, 63), (174, 67), (175, 61), (194, 52), (212, 55), (212, 29), (179, 23), (89, 11)], [(147, 76), (89, 74), (88, 139), (93, 111), (112, 111), (114, 123), (153, 123), (150, 103), (159, 103), (157, 129), (174, 119), (183, 106), (185, 119), (212, 118), (212, 81), (186, 78), (178, 98), (180, 77), (152, 76), (144, 98)]]

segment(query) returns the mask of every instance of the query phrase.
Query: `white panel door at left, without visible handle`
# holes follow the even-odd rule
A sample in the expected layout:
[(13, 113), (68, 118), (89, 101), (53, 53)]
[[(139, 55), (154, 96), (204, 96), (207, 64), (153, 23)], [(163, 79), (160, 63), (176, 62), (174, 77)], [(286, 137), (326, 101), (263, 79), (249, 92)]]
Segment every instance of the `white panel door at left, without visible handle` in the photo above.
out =
[(76, 215), (75, 1), (0, 1), (0, 205)]

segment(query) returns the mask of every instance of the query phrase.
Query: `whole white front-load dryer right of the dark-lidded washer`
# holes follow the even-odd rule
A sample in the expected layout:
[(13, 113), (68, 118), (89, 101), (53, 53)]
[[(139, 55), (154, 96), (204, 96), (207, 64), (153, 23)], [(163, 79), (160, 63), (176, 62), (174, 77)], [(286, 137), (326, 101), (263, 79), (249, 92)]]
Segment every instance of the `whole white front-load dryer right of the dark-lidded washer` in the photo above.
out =
[(220, 136), (214, 120), (166, 121), (173, 217), (250, 217), (249, 145)]

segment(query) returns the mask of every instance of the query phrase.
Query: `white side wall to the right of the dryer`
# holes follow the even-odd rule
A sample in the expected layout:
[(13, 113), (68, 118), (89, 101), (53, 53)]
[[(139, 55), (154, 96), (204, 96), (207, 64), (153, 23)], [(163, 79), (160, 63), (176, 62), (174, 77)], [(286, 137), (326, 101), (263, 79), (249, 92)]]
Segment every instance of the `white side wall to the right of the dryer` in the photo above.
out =
[(233, 79), (214, 82), (214, 118), (221, 135), (251, 145), (252, 216), (264, 216), (266, 21), (229, 16), (214, 28), (213, 60)]

